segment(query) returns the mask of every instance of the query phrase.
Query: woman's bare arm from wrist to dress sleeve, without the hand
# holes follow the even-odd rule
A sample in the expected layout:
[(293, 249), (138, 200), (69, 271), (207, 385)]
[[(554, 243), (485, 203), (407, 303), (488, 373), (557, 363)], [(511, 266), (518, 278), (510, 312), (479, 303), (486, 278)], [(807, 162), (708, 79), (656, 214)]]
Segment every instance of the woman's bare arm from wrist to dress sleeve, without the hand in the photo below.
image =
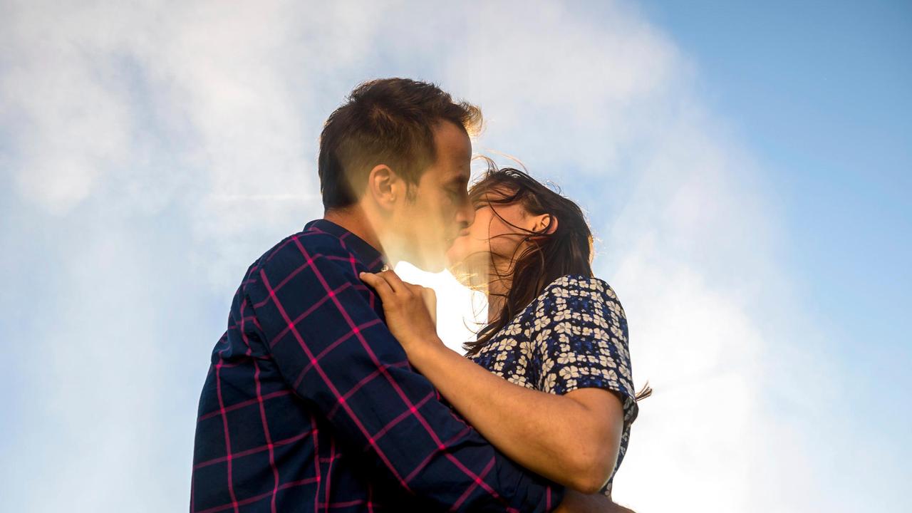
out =
[(442, 342), (413, 348), (409, 361), (516, 463), (583, 493), (605, 486), (617, 461), (624, 418), (613, 393), (595, 388), (565, 395), (530, 390), (488, 372)]

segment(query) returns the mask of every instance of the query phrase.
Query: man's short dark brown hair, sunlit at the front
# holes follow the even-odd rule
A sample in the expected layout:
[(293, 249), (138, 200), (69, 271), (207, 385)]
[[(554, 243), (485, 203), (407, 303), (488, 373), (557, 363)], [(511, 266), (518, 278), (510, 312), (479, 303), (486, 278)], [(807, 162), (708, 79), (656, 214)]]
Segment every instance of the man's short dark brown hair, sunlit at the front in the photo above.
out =
[(389, 165), (406, 183), (418, 183), (437, 158), (433, 128), (440, 121), (472, 135), (481, 128), (482, 111), (427, 82), (378, 79), (358, 85), (329, 115), (320, 135), (324, 208), (357, 203), (378, 164)]

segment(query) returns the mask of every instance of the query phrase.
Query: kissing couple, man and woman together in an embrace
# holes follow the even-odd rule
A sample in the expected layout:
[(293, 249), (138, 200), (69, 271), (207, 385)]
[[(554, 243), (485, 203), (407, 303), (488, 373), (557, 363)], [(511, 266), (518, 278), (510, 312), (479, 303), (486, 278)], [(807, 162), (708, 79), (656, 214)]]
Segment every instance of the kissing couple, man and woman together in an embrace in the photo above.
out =
[[(629, 511), (624, 309), (575, 203), (493, 165), (470, 187), (481, 123), (410, 79), (326, 120), (325, 214), (247, 269), (212, 351), (192, 512)], [(465, 354), (400, 261), (487, 295)]]

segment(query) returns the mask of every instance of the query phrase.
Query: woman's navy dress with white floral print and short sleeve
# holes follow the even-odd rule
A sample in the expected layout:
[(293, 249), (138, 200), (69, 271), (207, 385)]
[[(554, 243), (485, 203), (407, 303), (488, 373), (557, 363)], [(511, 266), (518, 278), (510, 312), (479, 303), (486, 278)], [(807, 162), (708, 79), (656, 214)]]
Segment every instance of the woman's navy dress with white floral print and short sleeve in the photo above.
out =
[(594, 387), (617, 394), (624, 405), (624, 432), (617, 464), (601, 490), (611, 496), (638, 408), (627, 317), (605, 281), (583, 275), (557, 278), (470, 358), (510, 382), (546, 393)]

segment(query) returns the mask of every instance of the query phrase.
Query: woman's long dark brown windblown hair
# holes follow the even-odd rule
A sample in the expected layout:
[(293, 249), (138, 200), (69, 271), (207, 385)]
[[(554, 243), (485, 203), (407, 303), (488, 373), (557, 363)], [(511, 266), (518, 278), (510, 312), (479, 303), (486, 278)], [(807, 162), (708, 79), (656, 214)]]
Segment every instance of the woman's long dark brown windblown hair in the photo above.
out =
[[(481, 330), (475, 341), (465, 342), (467, 355), (477, 354), (534, 298), (537, 298), (548, 284), (566, 275), (592, 277), (593, 237), (586, 215), (579, 205), (565, 198), (559, 191), (553, 191), (538, 182), (528, 173), (512, 167), (498, 168), (491, 160), (488, 171), (469, 190), (473, 204), (521, 204), (529, 215), (551, 215), (549, 225), (538, 232), (513, 225), (497, 214), (504, 224), (512, 226), (515, 234), (523, 240), (517, 254), (511, 258), (512, 265), (504, 275), (488, 277), (508, 280), (511, 286), (503, 295), (503, 308), (498, 315)], [(489, 194), (492, 193), (492, 194)], [(551, 225), (557, 223), (554, 231)], [(549, 233), (550, 232), (550, 233)], [(514, 235), (514, 234), (511, 234)], [(525, 244), (528, 243), (528, 244)], [(499, 273), (493, 266), (492, 272)], [(637, 393), (637, 401), (652, 393), (648, 383)]]

